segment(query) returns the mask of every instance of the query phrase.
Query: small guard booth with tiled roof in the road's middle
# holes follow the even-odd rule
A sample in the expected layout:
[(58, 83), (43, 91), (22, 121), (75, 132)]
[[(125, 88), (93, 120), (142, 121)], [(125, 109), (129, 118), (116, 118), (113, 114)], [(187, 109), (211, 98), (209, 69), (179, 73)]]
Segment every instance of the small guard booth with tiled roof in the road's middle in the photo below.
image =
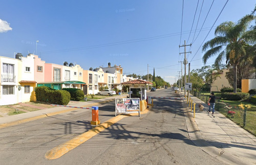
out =
[(129, 98), (139, 98), (140, 99), (140, 111), (147, 108), (146, 103), (146, 90), (147, 86), (152, 86), (153, 83), (144, 80), (132, 80), (121, 83), (122, 85), (129, 86)]

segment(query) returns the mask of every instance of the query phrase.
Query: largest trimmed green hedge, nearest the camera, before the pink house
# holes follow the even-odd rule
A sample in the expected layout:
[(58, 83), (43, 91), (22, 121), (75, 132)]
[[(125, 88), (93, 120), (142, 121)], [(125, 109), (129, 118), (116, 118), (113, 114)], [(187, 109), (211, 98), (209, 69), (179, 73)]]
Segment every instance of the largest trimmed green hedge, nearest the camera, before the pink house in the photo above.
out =
[(36, 87), (35, 96), (37, 101), (51, 104), (67, 105), (70, 101), (70, 93), (68, 91), (55, 90), (47, 86)]

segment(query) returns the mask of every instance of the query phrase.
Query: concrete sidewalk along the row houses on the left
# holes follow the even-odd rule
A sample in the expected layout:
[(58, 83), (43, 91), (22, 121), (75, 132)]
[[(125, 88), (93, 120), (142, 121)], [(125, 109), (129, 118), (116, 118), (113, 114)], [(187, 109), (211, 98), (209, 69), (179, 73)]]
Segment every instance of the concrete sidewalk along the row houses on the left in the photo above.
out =
[[(87, 101), (87, 102), (71, 102), (70, 104), (68, 104), (69, 106), (77, 106), (77, 107), (92, 107), (92, 106), (96, 106), (98, 104), (103, 104), (106, 102), (111, 102), (114, 101), (115, 98), (126, 98), (127, 94), (124, 95), (118, 95), (118, 96), (114, 96), (114, 97), (108, 97), (108, 98), (104, 98), (104, 99), (98, 99), (98, 100), (92, 100), (92, 101)], [(25, 120), (25, 119), (32, 119), (33, 117), (39, 117), (42, 115), (47, 116), (47, 114), (52, 114), (52, 113), (61, 113), (61, 111), (65, 111), (71, 109), (69, 107), (56, 107), (53, 106), (52, 108), (47, 108), (47, 109), (41, 109), (41, 110), (37, 110), (37, 111), (32, 111), (32, 112), (27, 112), (27, 113), (20, 113), (20, 114), (16, 114), (16, 115), (9, 115), (9, 116), (4, 116), (4, 117), (0, 117), (0, 128), (1, 126), (4, 126), (5, 124), (9, 124), (9, 123), (19, 123), (19, 121), (21, 120)], [(40, 117), (42, 118), (42, 117)], [(15, 124), (14, 124), (15, 125)]]

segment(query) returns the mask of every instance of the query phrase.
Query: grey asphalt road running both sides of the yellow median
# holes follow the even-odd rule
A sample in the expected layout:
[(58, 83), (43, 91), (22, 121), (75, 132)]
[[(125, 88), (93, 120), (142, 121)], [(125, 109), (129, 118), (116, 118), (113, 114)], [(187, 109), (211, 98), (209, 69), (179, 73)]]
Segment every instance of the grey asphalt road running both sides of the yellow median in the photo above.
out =
[[(179, 97), (172, 89), (149, 96)], [(146, 114), (125, 117), (58, 159), (47, 151), (92, 128), (91, 110), (45, 117), (0, 129), (0, 164), (223, 164), (189, 140), (181, 100), (155, 99)], [(102, 122), (115, 116), (114, 102), (99, 106)]]

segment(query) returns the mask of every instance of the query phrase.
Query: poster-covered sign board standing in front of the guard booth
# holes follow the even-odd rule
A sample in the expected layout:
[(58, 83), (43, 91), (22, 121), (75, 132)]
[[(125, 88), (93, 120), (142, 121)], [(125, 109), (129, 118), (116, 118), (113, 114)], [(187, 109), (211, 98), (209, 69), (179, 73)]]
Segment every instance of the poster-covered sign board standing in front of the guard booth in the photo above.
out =
[(115, 111), (117, 113), (139, 113), (140, 116), (140, 99), (139, 98), (116, 98)]

